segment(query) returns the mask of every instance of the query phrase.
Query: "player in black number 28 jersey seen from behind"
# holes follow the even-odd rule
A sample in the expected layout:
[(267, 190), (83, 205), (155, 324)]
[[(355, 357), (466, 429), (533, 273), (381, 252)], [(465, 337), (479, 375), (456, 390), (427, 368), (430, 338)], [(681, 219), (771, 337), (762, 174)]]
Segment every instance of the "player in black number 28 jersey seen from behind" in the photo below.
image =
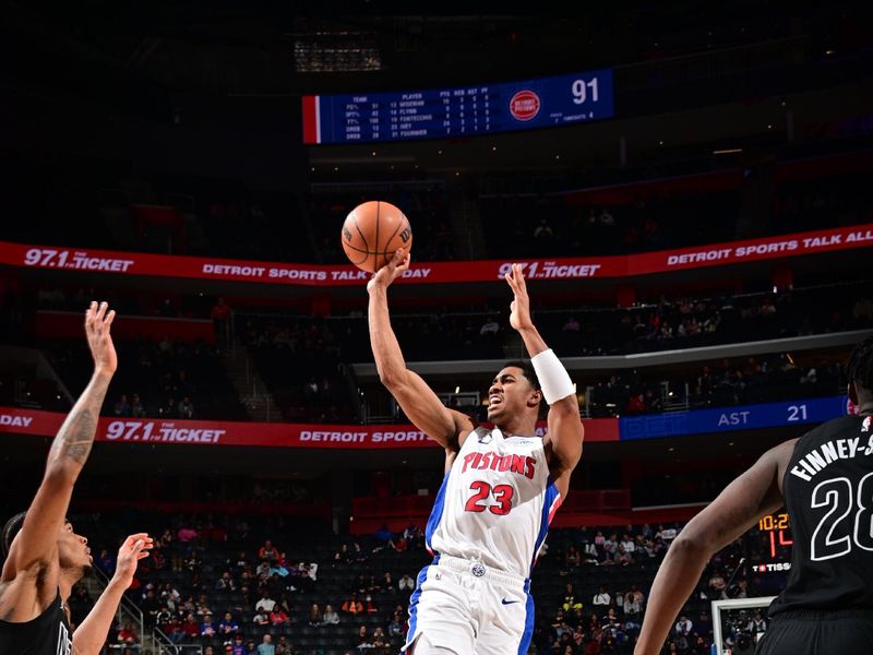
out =
[(755, 653), (873, 653), (873, 337), (846, 368), (859, 414), (767, 451), (685, 526), (655, 577), (635, 655), (661, 652), (706, 562), (782, 505), (791, 572)]

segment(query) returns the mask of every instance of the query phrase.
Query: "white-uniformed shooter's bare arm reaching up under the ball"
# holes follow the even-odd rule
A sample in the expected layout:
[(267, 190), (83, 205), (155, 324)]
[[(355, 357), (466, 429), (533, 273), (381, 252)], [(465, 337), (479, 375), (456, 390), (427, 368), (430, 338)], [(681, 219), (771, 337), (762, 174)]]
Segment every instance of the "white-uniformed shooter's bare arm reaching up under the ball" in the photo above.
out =
[(465, 414), (443, 405), (418, 373), (406, 368), (400, 345), (391, 326), (387, 288), (408, 267), (409, 255), (400, 248), (367, 283), (370, 294), (370, 345), (379, 379), (417, 428), (447, 451), (457, 451), (461, 448), (459, 439), (474, 429), (473, 421)]

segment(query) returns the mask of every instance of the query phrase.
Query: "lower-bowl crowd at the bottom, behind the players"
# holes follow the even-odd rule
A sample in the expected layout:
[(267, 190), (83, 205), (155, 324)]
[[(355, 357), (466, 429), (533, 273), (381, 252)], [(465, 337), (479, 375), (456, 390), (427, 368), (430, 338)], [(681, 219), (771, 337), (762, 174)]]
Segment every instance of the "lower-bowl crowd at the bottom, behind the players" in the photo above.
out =
[[(160, 521), (162, 519), (156, 519)], [(163, 517), (166, 522), (166, 516)], [(145, 618), (187, 653), (187, 645), (242, 655), (373, 655), (396, 652), (408, 630), (408, 599), (428, 563), (419, 527), (372, 536), (294, 539), (295, 555), (266, 534), (287, 539), (292, 521), (176, 517), (158, 529), (128, 592)], [(106, 531), (106, 527), (104, 527)], [(647, 595), (681, 524), (553, 529), (533, 577), (537, 599), (530, 653), (627, 654), (639, 633)], [(111, 536), (95, 565), (111, 574)], [(746, 561), (762, 561), (766, 535), (750, 531), (717, 553), (671, 631), (670, 653), (708, 653), (709, 603), (772, 593), (781, 582)], [(91, 598), (79, 585), (74, 622)], [(749, 610), (726, 626), (728, 642), (754, 641), (765, 614)], [(137, 627), (122, 620), (110, 643), (136, 652)], [(193, 653), (194, 651), (190, 651)]]

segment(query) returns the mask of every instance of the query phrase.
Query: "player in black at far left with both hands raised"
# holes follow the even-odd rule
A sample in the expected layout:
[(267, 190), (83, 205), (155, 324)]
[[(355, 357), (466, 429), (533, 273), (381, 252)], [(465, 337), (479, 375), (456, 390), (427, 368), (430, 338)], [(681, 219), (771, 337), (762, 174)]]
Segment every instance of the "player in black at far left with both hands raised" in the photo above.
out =
[(118, 367), (109, 329), (115, 311), (92, 302), (85, 333), (94, 374), (51, 444), (43, 483), (26, 512), (2, 532), (5, 561), (0, 577), (0, 653), (12, 655), (96, 655), (106, 642), (121, 595), (147, 557), (152, 539), (129, 536), (118, 551), (115, 575), (70, 638), (67, 600), (91, 568), (87, 539), (67, 521), (73, 485), (91, 453), (106, 390)]

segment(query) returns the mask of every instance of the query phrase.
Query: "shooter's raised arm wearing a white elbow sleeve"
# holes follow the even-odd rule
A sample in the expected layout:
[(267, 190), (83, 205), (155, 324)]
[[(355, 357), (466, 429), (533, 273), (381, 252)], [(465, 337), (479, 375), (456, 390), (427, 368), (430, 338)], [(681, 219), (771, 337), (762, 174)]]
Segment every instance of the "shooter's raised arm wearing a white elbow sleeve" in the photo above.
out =
[(510, 325), (522, 335), (542, 395), (549, 404), (549, 432), (545, 438), (547, 452), (551, 451), (549, 469), (561, 495), (565, 496), (570, 474), (582, 457), (582, 442), (585, 438), (576, 390), (566, 369), (534, 325), (522, 266), (513, 264), (505, 279), (514, 295), (510, 307)]

